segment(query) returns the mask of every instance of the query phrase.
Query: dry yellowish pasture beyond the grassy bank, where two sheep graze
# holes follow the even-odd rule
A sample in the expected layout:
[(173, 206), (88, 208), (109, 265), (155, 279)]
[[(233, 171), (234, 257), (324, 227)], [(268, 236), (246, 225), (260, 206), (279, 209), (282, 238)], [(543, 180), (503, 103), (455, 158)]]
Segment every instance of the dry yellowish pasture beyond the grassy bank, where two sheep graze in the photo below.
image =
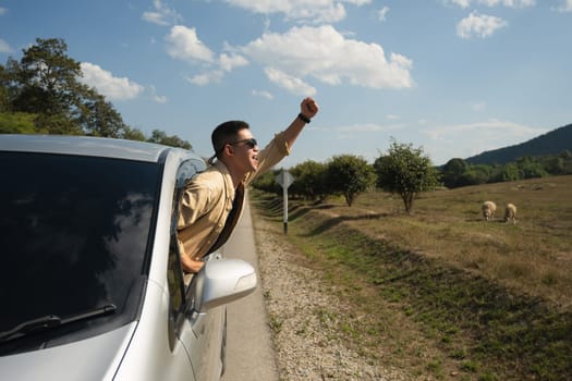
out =
[[(492, 221), (482, 216), (485, 200), (497, 204)], [(515, 224), (503, 220), (508, 202), (518, 207)], [(380, 192), (351, 208), (330, 199), (321, 209), (372, 237), (572, 307), (572, 176), (426, 193), (412, 216), (397, 195)]]

